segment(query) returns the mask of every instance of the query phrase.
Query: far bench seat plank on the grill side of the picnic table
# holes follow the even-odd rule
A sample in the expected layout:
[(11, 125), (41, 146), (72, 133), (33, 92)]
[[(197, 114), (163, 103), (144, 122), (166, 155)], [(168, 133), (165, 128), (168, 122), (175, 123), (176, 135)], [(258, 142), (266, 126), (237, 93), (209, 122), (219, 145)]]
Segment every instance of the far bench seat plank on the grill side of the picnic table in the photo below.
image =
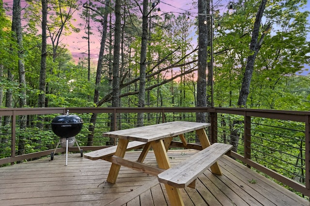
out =
[[(127, 149), (137, 149), (141, 148), (145, 145), (146, 143), (144, 142), (139, 142), (139, 141), (132, 141), (128, 143)], [(84, 157), (90, 160), (99, 160), (107, 156), (114, 155), (116, 152), (117, 146), (112, 146), (112, 147), (106, 147), (103, 149), (98, 149), (92, 152), (88, 152), (84, 154)]]

